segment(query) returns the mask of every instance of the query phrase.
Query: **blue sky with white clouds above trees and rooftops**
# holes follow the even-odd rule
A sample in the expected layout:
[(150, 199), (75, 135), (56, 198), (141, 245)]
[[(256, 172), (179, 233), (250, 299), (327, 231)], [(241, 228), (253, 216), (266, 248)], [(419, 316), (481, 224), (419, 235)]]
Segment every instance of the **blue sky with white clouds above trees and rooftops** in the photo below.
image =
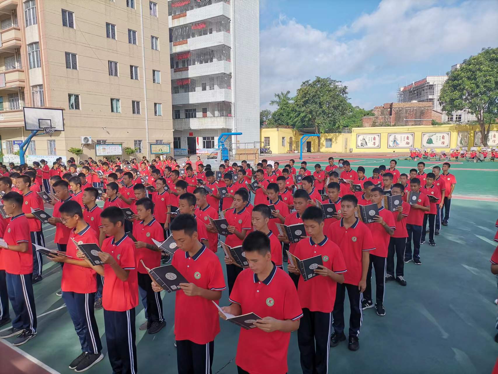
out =
[(316, 75), (354, 105), (396, 101), (398, 86), (498, 46), (497, 0), (260, 0), (260, 104)]

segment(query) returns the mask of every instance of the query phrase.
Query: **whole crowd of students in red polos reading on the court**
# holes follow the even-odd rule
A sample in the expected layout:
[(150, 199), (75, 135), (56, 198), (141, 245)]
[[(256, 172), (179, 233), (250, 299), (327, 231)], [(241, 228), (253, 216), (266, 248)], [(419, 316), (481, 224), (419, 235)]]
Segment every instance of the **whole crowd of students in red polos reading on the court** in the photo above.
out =
[[(48, 222), (55, 226), (58, 249), (47, 257), (62, 266), (60, 295), (82, 350), (70, 369), (82, 372), (103, 359), (94, 312), (103, 308), (113, 372), (137, 372), (135, 307), (141, 301), (145, 309), (140, 330), (156, 334), (164, 328), (162, 288), (147, 268), (171, 257), (188, 281), (175, 293), (179, 373), (211, 373), (220, 317), (248, 313), (261, 319), (253, 328), (241, 329), (238, 373), (287, 373), (290, 333), (296, 330), (303, 373), (327, 373), (330, 347), (348, 338), (350, 350), (360, 348), (363, 310), (386, 314), (385, 282), (406, 286), (405, 263), (422, 264), (426, 234), (429, 245), (436, 245), (435, 236), (448, 225), (457, 183), (449, 163), (442, 171), (434, 166), (425, 173), (425, 164), (419, 162), (406, 174), (391, 160), (369, 177), (364, 167), (355, 171), (347, 160), (338, 165), (332, 157), (328, 161), (324, 170), (316, 164), (313, 173), (306, 162), (296, 169), (294, 160), (284, 168), (262, 160), (255, 170), (246, 161), (230, 165), (225, 160), (213, 170), (200, 158), (178, 165), (159, 157), (150, 163), (89, 159), (76, 165), (70, 160), (68, 168), (59, 162), (48, 168), (44, 160), (32, 168), (11, 165), (7, 170), (1, 165), (5, 216), (0, 219), (0, 326), (12, 322), (12, 327), (0, 337), (14, 337), (13, 344), (22, 345), (36, 336), (32, 284), (43, 279), (43, 258), (31, 244), (48, 244), (33, 214), (44, 209), (38, 194), (43, 189), (51, 193)], [(226, 187), (223, 197), (221, 187)], [(415, 192), (420, 192), (418, 200), (406, 202), (406, 195)], [(404, 201), (391, 211), (384, 207), (384, 195), (399, 195)], [(99, 199), (104, 200), (103, 208), (97, 205)], [(324, 218), (322, 203), (334, 204), (333, 217)], [(379, 214), (366, 224), (357, 206), (369, 204), (376, 204)], [(131, 219), (125, 219), (123, 208), (133, 211)], [(221, 237), (212, 220), (220, 217), (228, 223), (224, 244), (242, 245), (249, 263), (243, 268), (225, 255), (226, 279), (215, 254)], [(290, 242), (279, 223), (303, 223), (305, 232)], [(152, 240), (162, 242), (170, 235), (178, 246), (172, 256)], [(78, 250), (77, 244), (84, 243), (99, 245), (103, 265), (94, 265)], [(323, 265), (314, 270), (318, 276), (304, 279), (294, 262), (286, 272), (287, 251), (300, 259), (320, 255)], [(227, 287), (231, 304), (219, 312), (213, 302), (218, 303)]]

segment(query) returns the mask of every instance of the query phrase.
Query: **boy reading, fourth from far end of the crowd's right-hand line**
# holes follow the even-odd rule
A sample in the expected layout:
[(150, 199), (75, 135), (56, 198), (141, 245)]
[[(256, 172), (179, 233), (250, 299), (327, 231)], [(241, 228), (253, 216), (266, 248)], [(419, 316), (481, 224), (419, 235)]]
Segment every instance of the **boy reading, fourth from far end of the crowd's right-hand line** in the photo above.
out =
[[(410, 190), (413, 192), (420, 192), (420, 180), (418, 178), (412, 178), (410, 180)], [(418, 196), (418, 201), (410, 204), (410, 212), (406, 218), (406, 231), (408, 232), (408, 237), (406, 239), (406, 247), (404, 254), (404, 262), (410, 262), (412, 260), (411, 255), (411, 241), (413, 239), (413, 262), (416, 265), (421, 265), (420, 262), (420, 238), (422, 235), (422, 223), (424, 222), (424, 212), (430, 210), (429, 198), (423, 192), (420, 192)]]

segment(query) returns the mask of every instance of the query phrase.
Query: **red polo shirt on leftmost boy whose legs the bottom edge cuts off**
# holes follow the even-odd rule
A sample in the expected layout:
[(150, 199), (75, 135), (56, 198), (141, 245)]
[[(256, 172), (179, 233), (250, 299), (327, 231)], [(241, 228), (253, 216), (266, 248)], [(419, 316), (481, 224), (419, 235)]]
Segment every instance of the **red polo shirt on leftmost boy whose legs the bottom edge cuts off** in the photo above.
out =
[(105, 310), (125, 312), (138, 305), (138, 279), (136, 276), (135, 243), (127, 235), (119, 241), (114, 236), (104, 240), (102, 251), (111, 254), (118, 265), (129, 270), (128, 279), (122, 281), (110, 265), (104, 264), (102, 305)]

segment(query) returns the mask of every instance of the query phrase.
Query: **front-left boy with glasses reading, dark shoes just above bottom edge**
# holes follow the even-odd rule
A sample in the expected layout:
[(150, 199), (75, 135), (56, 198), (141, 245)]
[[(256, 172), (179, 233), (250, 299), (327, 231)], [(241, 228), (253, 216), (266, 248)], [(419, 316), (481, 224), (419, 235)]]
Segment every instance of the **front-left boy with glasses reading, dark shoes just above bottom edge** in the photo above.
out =
[(94, 298), (97, 291), (95, 270), (81, 258), (77, 257), (75, 242), (99, 243), (96, 232), (83, 219), (81, 205), (74, 200), (61, 205), (59, 212), (64, 224), (71, 230), (67, 244), (67, 256), (49, 255), (54, 262), (64, 263), (62, 269), (62, 298), (68, 308), (76, 334), (83, 352), (71, 364), (69, 369), (83, 372), (90, 369), (104, 358), (100, 341), (99, 328), (94, 315)]

